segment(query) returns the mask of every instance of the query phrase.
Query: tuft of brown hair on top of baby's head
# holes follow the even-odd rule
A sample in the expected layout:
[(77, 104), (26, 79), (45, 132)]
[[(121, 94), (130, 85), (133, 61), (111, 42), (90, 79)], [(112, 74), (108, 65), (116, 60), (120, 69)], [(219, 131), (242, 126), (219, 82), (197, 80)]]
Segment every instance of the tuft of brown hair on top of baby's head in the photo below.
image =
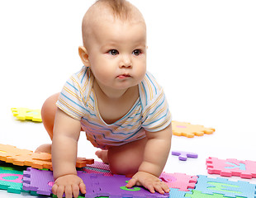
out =
[(131, 4), (126, 0), (97, 0), (97, 3), (104, 3), (107, 7), (111, 8), (113, 15), (117, 18), (126, 21), (131, 14)]

